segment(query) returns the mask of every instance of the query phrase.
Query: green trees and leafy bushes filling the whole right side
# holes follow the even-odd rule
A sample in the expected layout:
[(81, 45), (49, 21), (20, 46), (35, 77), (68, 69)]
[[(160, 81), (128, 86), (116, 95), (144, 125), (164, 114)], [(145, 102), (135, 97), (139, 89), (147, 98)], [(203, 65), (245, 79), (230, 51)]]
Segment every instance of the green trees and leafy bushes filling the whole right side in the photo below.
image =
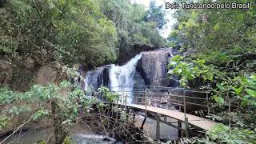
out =
[[(218, 1), (223, 2), (233, 1)], [(170, 32), (169, 45), (188, 51), (186, 58), (176, 56), (170, 61), (169, 73), (177, 74), (182, 86), (198, 78), (207, 80), (200, 84), (211, 90), (217, 102), (211, 103), (208, 117), (229, 125), (218, 125), (205, 138), (184, 143), (256, 142), (256, 6), (254, 1), (241, 2), (250, 2), (250, 10), (179, 9), (174, 14), (178, 22)]]

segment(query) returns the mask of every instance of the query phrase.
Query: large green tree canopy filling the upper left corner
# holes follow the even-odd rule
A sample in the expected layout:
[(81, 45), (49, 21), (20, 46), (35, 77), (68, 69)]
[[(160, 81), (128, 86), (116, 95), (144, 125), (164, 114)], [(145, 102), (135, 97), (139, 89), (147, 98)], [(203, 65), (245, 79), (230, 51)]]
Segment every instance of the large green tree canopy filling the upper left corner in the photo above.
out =
[(0, 14), (0, 53), (10, 58), (92, 66), (116, 58), (115, 26), (90, 0), (12, 0)]

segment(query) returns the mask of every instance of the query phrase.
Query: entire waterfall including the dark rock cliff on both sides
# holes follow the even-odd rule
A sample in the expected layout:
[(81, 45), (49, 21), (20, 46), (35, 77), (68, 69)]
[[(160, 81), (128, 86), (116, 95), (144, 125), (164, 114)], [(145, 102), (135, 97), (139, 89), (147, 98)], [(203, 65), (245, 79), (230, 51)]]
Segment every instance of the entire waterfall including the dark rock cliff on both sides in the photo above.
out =
[[(107, 86), (122, 95), (122, 102), (128, 95), (127, 103), (131, 103), (133, 86), (178, 86), (177, 78), (167, 79), (166, 65), (171, 57), (171, 50), (154, 50), (137, 54), (123, 66), (98, 67), (86, 73), (84, 90), (90, 96), (100, 86)], [(126, 92), (122, 93), (123, 90)]]

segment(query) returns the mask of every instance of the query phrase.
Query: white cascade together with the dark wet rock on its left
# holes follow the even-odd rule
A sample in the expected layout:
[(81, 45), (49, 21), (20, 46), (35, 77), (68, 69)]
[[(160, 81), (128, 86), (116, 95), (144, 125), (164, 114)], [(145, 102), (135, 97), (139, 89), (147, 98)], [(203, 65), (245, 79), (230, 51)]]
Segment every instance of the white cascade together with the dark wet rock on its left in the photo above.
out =
[(122, 94), (122, 90), (129, 90), (125, 95), (129, 96), (127, 103), (130, 103), (132, 101), (131, 97), (133, 96), (132, 90), (134, 86), (134, 75), (136, 74), (136, 65), (140, 58), (142, 58), (142, 54), (137, 54), (123, 66), (113, 64), (88, 71), (84, 80), (84, 90), (86, 90), (87, 96), (90, 96), (92, 91), (97, 90), (100, 86), (108, 86), (112, 91), (118, 94)]

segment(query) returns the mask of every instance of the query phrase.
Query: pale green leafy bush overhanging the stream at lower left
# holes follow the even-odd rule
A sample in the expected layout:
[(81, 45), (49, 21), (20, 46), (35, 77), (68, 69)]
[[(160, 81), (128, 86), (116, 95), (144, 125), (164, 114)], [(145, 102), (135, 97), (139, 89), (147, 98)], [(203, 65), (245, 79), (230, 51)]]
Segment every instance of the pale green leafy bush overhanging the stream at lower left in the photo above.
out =
[[(60, 85), (50, 84), (48, 86), (33, 86), (30, 91), (26, 93), (14, 93), (13, 91), (2, 88), (0, 89), (1, 105), (11, 104), (12, 106), (8, 109), (8, 114), (10, 118), (14, 115), (29, 114), (30, 105), (26, 103), (33, 104), (34, 102), (40, 103), (38, 109), (34, 114), (31, 115), (33, 120), (38, 120), (45, 116), (50, 116), (49, 106), (46, 102), (56, 101), (60, 106), (59, 114), (62, 114), (66, 120), (63, 124), (72, 124), (78, 114), (78, 108), (81, 104), (78, 104), (78, 98), (82, 102), (90, 101), (85, 98), (83, 90), (78, 87), (71, 87), (70, 82), (62, 82)], [(66, 95), (62, 93), (65, 91)]]

